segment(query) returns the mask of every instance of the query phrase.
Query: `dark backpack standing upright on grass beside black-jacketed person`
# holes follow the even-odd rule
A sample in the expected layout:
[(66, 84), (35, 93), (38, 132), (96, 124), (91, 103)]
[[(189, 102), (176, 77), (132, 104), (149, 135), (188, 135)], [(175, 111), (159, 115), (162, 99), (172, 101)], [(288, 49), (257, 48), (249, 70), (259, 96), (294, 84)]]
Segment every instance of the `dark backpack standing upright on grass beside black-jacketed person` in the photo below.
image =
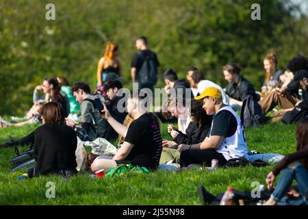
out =
[(261, 106), (257, 101), (253, 99), (253, 96), (249, 95), (244, 99), (241, 120), (244, 127), (258, 127), (264, 124), (264, 114), (262, 113)]

